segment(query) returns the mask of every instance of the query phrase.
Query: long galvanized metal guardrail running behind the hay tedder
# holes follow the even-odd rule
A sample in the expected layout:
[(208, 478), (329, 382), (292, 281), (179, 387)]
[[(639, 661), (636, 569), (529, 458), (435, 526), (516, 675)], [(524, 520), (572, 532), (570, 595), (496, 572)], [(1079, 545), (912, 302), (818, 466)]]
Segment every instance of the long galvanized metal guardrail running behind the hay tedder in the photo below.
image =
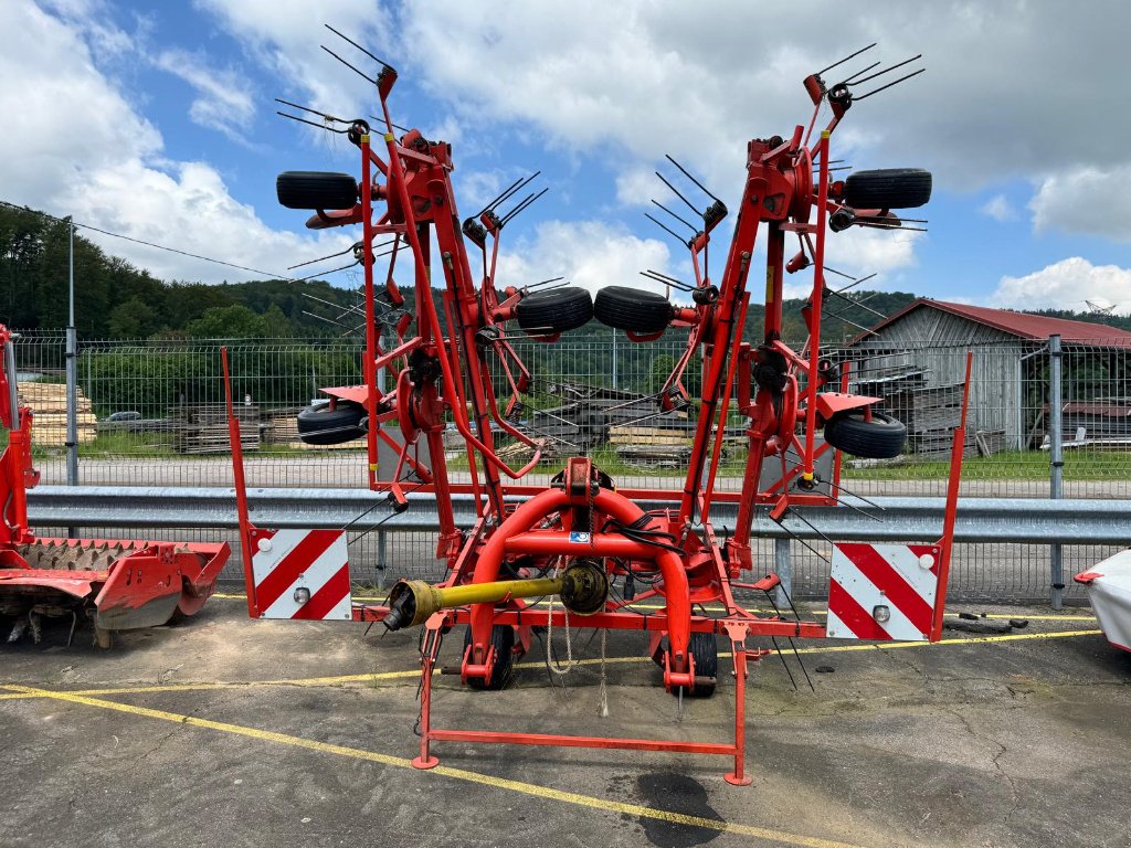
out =
[[(383, 494), (355, 488), (248, 491), (251, 519), (264, 527), (437, 531), (432, 495), (408, 495), (408, 508), (394, 513)], [(452, 497), (456, 522), (475, 520), (469, 495)], [(806, 507), (804, 521), (788, 514), (782, 525), (768, 509), (756, 511), (753, 533), (762, 538), (924, 542), (942, 534), (942, 497), (845, 497), (845, 505)], [(646, 508), (664, 502), (642, 503)], [(197, 527), (238, 526), (231, 488), (40, 486), (28, 492), (28, 512), (40, 527)], [(711, 520), (723, 531), (734, 527), (736, 504), (716, 503)], [(1025, 497), (962, 497), (955, 540), (1065, 545), (1131, 544), (1131, 503), (1123, 500), (1045, 501)]]

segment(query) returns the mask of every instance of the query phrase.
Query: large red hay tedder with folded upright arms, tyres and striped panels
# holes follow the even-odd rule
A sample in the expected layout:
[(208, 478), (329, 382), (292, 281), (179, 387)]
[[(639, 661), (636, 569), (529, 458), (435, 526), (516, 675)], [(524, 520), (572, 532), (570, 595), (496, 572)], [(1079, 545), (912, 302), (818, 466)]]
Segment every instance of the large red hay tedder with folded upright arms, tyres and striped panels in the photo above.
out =
[[(422, 490), (435, 496), (437, 556), (447, 562), (447, 579), (438, 585), (403, 580), (385, 605), (356, 603), (351, 595), (344, 530), (254, 527), (248, 518), (239, 422), (232, 415), (250, 614), (383, 622), (390, 630), (423, 625), (421, 743), (413, 761), (417, 768), (437, 764), (433, 742), (585, 746), (725, 755), (734, 761), (726, 780), (749, 784), (743, 765), (748, 663), (767, 651), (748, 647), (748, 639), (835, 634), (936, 640), (942, 629), (965, 405), (940, 540), (835, 545), (827, 623), (804, 621), (796, 613), (757, 614), (735, 599), (735, 590), (769, 592), (780, 582), (775, 574), (750, 573), (756, 508), (768, 508), (771, 518), (780, 521), (797, 507), (834, 505), (840, 491), (839, 450), (891, 457), (904, 445), (904, 426), (873, 409), (879, 398), (846, 393), (846, 371), (821, 354), (820, 318), (828, 292), (828, 232), (849, 226), (898, 228), (904, 222), (891, 209), (917, 207), (930, 198), (931, 175), (918, 170), (858, 172), (844, 182), (830, 179), (832, 131), (854, 99), (875, 93), (854, 96), (854, 87), (907, 62), (874, 72), (875, 66), (870, 66), (831, 86), (821, 75), (841, 62), (811, 75), (804, 80), (813, 106), (808, 128), (798, 126), (787, 136), (748, 144), (734, 233), (717, 280), (709, 276), (706, 258), (727, 208), (672, 159), (709, 198), (700, 211), (676, 191), (701, 220), (691, 227), (694, 232), (689, 240), (681, 237), (690, 251), (694, 283), (684, 286), (690, 302), (676, 305), (662, 295), (625, 286), (604, 288), (596, 298), (569, 286), (539, 292), (499, 288), (495, 261), (502, 230), (538, 194), (515, 201), (529, 182), (519, 181), (460, 222), (450, 180), (451, 146), (431, 141), (415, 129), (399, 136), (394, 131), (389, 95), (397, 73), (349, 43), (378, 62), (377, 76), (366, 79), (380, 101), (380, 129), (374, 131), (363, 120), (345, 121), (296, 107), (319, 115), (322, 123), (316, 126), (343, 132), (359, 148), (360, 180), (348, 174), (288, 172), (279, 175), (277, 189), (284, 206), (316, 210), (307, 223), (311, 228), (362, 228), (354, 253), (364, 270), (365, 384), (327, 389), (331, 399), (300, 416), (300, 432), (307, 441), (320, 444), (364, 439), (370, 487), (388, 492), (395, 510), (407, 505), (402, 481), (412, 469), (423, 481)], [(831, 116), (814, 135), (826, 107)], [(511, 202), (511, 210), (502, 214), (500, 208)], [(752, 344), (743, 339), (742, 328), (754, 242), (763, 225), (766, 322), (760, 343)], [(374, 244), (382, 237), (388, 241)], [(798, 251), (787, 259), (786, 243), (794, 239)], [(374, 279), (375, 248), (382, 246), (389, 257), (383, 285)], [(480, 256), (473, 261), (475, 253)], [(402, 258), (409, 262), (415, 283), (414, 312), (395, 322), (395, 340), (382, 345), (381, 312), (404, 302), (394, 282)], [(782, 339), (783, 278), (787, 271), (802, 269), (811, 269), (813, 284), (803, 310), (810, 338), (797, 352)], [(431, 292), (438, 274), (443, 284), (443, 321)], [(671, 277), (653, 276), (680, 286)], [(618, 488), (586, 457), (567, 459), (547, 486), (520, 483), (542, 457), (538, 442), (512, 423), (530, 374), (511, 345), (509, 328), (517, 323), (527, 336), (552, 341), (593, 318), (640, 344), (658, 338), (670, 327), (687, 328), (687, 348), (656, 397), (657, 410), (683, 407), (697, 417), (681, 490)], [(693, 357), (702, 363), (694, 398), (683, 383)], [(226, 358), (224, 369), (227, 379)], [(397, 374), (386, 391), (377, 380), (383, 369)], [(492, 374), (504, 379), (497, 384)], [(746, 422), (749, 455), (742, 491), (722, 492), (716, 483), (724, 425), (732, 410)], [(446, 468), (442, 432), (449, 416), (467, 445), (468, 483), (452, 482)], [(495, 449), (493, 429), (527, 445), (533, 451), (529, 461), (520, 468), (508, 465)], [(820, 441), (817, 434), (822, 430)], [(378, 479), (378, 440), (398, 455), (391, 482)], [(431, 467), (416, 459), (421, 441), (429, 449)], [(787, 451), (793, 458), (787, 459)], [(828, 479), (821, 479), (815, 464), (824, 451), (837, 453)], [(780, 464), (782, 474), (776, 484), (761, 487), (766, 462)], [(456, 526), (454, 493), (474, 499), (477, 520), (472, 527)], [(726, 501), (737, 504), (739, 519), (724, 542), (710, 511), (714, 503)], [(545, 596), (554, 598), (549, 607), (528, 600)], [(658, 612), (634, 608), (649, 598), (663, 605)], [(708, 604), (724, 612), (714, 616), (701, 612)], [(716, 637), (722, 635), (734, 664), (734, 739), (690, 743), (438, 728), (431, 716), (432, 675), (442, 635), (457, 624), (467, 625), (458, 673), (475, 689), (503, 687), (516, 657), (529, 649), (535, 632), (582, 626), (647, 632), (648, 655), (663, 668), (664, 687), (680, 695), (706, 696), (715, 690)]]

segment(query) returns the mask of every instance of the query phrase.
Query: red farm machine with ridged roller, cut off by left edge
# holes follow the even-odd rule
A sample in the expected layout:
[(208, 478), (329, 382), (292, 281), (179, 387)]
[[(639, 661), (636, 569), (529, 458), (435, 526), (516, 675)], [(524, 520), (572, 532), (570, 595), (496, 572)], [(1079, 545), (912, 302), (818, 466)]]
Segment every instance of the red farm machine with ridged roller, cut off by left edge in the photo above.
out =
[(136, 539), (37, 539), (27, 522), (27, 490), (40, 482), (32, 465), (33, 413), (19, 406), (12, 334), (0, 325), (0, 426), (8, 444), (0, 456), (0, 616), (15, 624), (8, 641), (25, 633), (40, 641), (44, 617), (80, 615), (94, 640), (109, 648), (115, 630), (166, 624), (197, 613), (216, 589), (231, 548)]

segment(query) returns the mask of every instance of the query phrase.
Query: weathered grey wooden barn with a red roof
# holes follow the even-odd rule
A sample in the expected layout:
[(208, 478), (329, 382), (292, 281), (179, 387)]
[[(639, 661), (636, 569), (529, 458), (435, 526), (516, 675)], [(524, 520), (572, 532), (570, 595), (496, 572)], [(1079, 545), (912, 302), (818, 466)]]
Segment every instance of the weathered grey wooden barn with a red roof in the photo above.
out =
[(957, 387), (973, 351), (968, 450), (1024, 450), (1044, 438), (1053, 335), (1064, 352), (1065, 404), (1131, 412), (1131, 332), (1106, 325), (923, 297), (848, 341), (843, 354), (853, 390), (883, 397), (908, 424), (910, 449), (933, 455), (957, 423)]

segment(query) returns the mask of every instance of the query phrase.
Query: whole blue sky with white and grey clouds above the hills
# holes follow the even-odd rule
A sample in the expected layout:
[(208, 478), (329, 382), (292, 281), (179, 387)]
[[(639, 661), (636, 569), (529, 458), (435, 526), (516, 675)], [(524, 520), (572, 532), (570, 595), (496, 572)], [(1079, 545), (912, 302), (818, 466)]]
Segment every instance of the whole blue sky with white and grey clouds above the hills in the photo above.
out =
[[(824, 0), (0, 0), (0, 199), (275, 274), (342, 249), (353, 234), (309, 233), (274, 191), (279, 171), (357, 170), (348, 142), (278, 118), (274, 97), (375, 111), (319, 47), (361, 60), (323, 23), (398, 69), (394, 120), (454, 145), (465, 215), (542, 170), (550, 191), (508, 227), (501, 284), (689, 277), (685, 250), (645, 218), (666, 204), (664, 154), (733, 207), (746, 141), (808, 122), (801, 80), (879, 42), (870, 55), (922, 52), (926, 72), (855, 105), (834, 154), (930, 168), (930, 232), (837, 234), (829, 265), (943, 300), (1131, 312), (1119, 0), (851, 14)], [(87, 235), (167, 279), (260, 276)]]

